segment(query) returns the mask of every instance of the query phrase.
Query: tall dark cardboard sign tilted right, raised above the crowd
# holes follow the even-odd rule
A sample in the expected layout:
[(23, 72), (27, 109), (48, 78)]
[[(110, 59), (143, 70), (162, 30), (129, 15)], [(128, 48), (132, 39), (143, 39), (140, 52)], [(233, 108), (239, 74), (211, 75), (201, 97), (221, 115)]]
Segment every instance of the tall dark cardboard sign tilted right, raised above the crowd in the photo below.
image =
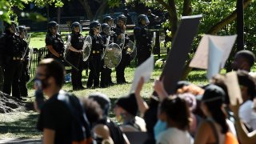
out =
[[(174, 94), (177, 82), (182, 77), (186, 59), (191, 50), (191, 45), (202, 15), (182, 17), (177, 33), (172, 42), (172, 48), (166, 59), (166, 65), (161, 77), (164, 77), (164, 87), (168, 94)], [(155, 94), (155, 93), (154, 93)]]

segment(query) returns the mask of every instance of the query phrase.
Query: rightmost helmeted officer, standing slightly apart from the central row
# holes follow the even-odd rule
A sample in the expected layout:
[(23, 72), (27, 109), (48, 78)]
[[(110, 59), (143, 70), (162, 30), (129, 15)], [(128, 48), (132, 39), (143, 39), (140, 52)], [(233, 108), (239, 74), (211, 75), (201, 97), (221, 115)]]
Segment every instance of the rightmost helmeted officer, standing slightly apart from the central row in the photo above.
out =
[(138, 26), (134, 27), (134, 39), (137, 47), (138, 66), (150, 58), (152, 34), (147, 29), (150, 23), (145, 14), (138, 15)]

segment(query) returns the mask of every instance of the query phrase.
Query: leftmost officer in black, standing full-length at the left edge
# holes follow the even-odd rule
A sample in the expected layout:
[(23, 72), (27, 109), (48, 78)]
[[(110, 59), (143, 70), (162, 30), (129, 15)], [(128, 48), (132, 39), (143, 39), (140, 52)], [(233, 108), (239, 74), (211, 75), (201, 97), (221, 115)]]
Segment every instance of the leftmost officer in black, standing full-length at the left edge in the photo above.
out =
[(18, 80), (22, 74), (22, 38), (16, 33), (16, 23), (5, 23), (5, 34), (0, 38), (0, 50), (3, 55), (4, 83), (2, 92), (21, 99)]

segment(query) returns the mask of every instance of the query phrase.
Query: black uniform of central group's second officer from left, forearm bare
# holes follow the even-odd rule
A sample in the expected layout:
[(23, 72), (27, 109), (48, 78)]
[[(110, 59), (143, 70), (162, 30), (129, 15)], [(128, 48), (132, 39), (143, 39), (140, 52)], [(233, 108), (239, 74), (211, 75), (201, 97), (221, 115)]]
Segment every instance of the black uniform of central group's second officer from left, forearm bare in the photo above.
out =
[[(82, 50), (84, 37), (82, 34), (71, 34), (71, 46), (74, 47), (76, 50)], [(68, 51), (67, 61), (69, 61), (72, 65), (74, 65), (78, 70), (75, 70), (72, 67), (71, 70), (71, 81), (73, 90), (82, 89), (82, 68), (83, 68), (83, 61), (82, 61), (82, 53), (77, 53), (72, 50)]]

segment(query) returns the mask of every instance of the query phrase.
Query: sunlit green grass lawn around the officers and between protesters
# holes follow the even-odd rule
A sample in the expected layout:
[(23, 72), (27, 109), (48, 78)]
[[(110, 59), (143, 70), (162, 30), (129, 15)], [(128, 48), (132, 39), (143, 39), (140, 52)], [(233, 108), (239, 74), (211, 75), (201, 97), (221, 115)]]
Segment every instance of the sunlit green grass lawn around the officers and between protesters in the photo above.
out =
[[(30, 47), (43, 47), (45, 46), (45, 35), (46, 33), (34, 33), (30, 41)], [(86, 35), (86, 34), (83, 34)], [(162, 57), (166, 57), (166, 54), (162, 54)], [(156, 57), (155, 57), (156, 58)], [(111, 99), (111, 102), (114, 104), (115, 100), (123, 95), (128, 94), (130, 90), (131, 82), (134, 78), (135, 64), (132, 62), (131, 66), (126, 68), (126, 81), (129, 82), (123, 85), (114, 85), (107, 88), (98, 88), (94, 90), (78, 90), (72, 91), (71, 83), (68, 82), (63, 86), (63, 90), (72, 92), (78, 97), (88, 96), (95, 92), (101, 92), (107, 94)], [(143, 86), (142, 97), (148, 99), (150, 94), (153, 92), (153, 83), (154, 79), (158, 79), (159, 75), (162, 73), (162, 69), (155, 68), (154, 73), (150, 79), (150, 82), (146, 82)], [(222, 70), (222, 73), (225, 73), (225, 70)], [(206, 71), (205, 70), (194, 70), (191, 71), (186, 80), (193, 82), (194, 84), (206, 84)], [(83, 72), (83, 86), (86, 86), (86, 72)], [(115, 71), (112, 73), (112, 80), (115, 80)], [(34, 90), (32, 89), (33, 84), (29, 84), (29, 98), (27, 102), (34, 101)], [(112, 105), (113, 108), (113, 105)], [(114, 118), (113, 110), (110, 111), (110, 117)], [(42, 134), (35, 129), (36, 122), (38, 119), (38, 113), (33, 110), (23, 110), (8, 114), (0, 114), (0, 140), (5, 138), (41, 138)]]

